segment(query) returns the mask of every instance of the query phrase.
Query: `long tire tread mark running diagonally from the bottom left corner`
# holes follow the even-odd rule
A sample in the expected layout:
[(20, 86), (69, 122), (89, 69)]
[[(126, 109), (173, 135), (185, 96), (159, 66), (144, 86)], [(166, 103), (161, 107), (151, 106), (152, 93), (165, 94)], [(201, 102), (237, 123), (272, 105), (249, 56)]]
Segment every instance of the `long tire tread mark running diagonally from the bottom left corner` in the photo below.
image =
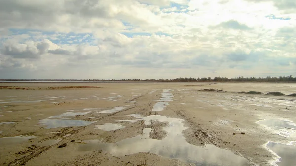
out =
[[(128, 111), (128, 110), (133, 109), (133, 108), (136, 108), (136, 107), (138, 107), (138, 106), (131, 107), (131, 108), (125, 109), (123, 111)], [(100, 117), (100, 118), (87, 118), (87, 119), (84, 119), (84, 120), (97, 121), (97, 120), (101, 120), (101, 119), (104, 119), (104, 118), (113, 116), (113, 115), (115, 115), (117, 113), (120, 113), (120, 112), (123, 112), (123, 111), (119, 111), (119, 112), (115, 112), (115, 113), (112, 113), (112, 114), (108, 114), (108, 115), (105, 115), (105, 116)], [(66, 134), (74, 134), (76, 132), (81, 131), (85, 127), (86, 126), (80, 126), (80, 127), (75, 128), (75, 129), (73, 129), (72, 127), (62, 128), (62, 129), (60, 129), (58, 131), (59, 133), (54, 133), (53, 136), (49, 136), (48, 138), (44, 138), (40, 142), (43, 142), (43, 141), (48, 140), (48, 139), (55, 139), (55, 138), (62, 138), (62, 140), (60, 141), (60, 142), (62, 142), (64, 139), (67, 138), (67, 137), (66, 138), (63, 138), (62, 136), (66, 135)], [(56, 144), (58, 144), (58, 143), (56, 143)], [(21, 158), (15, 159), (14, 161), (11, 161), (8, 164), (8, 166), (21, 166), (21, 165), (25, 165), (32, 158), (39, 156), (40, 154), (42, 154), (43, 152), (47, 151), (48, 149), (50, 149), (51, 147), (55, 146), (56, 144), (51, 145), (51, 146), (44, 146), (44, 147), (37, 146), (37, 148), (35, 148), (34, 150), (28, 151), (30, 154), (28, 154), (26, 156), (23, 156)], [(26, 153), (28, 153), (28, 152), (26, 152)], [(20, 151), (18, 153), (24, 154), (23, 151)]]

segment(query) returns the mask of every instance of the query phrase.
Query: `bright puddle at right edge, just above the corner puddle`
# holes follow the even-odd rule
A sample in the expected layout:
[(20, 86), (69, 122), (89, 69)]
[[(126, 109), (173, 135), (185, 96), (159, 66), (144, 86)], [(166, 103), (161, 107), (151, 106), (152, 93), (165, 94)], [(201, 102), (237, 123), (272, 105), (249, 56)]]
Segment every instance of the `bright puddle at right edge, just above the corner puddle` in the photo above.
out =
[(277, 134), (283, 137), (291, 137), (296, 133), (296, 124), (293, 121), (282, 119), (264, 119), (256, 122), (261, 125), (267, 126), (269, 129), (274, 130)]

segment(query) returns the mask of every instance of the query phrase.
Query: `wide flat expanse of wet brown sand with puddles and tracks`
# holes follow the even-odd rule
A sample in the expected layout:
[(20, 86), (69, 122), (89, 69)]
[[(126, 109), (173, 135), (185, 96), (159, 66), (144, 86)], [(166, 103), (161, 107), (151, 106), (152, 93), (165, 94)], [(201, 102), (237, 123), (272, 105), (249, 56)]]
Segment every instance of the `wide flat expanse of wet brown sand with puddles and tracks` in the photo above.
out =
[(0, 165), (296, 165), (295, 83), (0, 86)]

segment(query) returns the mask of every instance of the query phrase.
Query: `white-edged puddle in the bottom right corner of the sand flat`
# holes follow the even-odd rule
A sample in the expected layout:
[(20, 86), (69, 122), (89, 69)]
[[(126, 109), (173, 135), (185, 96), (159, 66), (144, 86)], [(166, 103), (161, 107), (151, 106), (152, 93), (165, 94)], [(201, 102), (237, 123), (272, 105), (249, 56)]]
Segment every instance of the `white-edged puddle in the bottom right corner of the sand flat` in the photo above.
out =
[(276, 161), (278, 166), (296, 166), (296, 145), (295, 144), (282, 144), (275, 142), (268, 142), (266, 147), (273, 153), (279, 156)]

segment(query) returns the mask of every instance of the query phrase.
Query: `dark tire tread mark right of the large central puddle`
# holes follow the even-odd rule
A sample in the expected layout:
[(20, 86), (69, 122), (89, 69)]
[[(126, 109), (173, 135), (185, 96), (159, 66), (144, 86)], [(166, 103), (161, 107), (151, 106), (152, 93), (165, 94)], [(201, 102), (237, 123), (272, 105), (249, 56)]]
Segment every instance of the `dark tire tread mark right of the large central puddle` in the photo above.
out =
[(186, 120), (192, 129), (194, 130), (194, 134), (200, 140), (202, 140), (205, 144), (214, 144), (213, 141), (206, 135), (206, 132), (202, 131), (201, 128), (194, 125), (194, 123), (188, 119), (181, 111), (175, 111), (178, 116), (181, 116), (184, 120)]

